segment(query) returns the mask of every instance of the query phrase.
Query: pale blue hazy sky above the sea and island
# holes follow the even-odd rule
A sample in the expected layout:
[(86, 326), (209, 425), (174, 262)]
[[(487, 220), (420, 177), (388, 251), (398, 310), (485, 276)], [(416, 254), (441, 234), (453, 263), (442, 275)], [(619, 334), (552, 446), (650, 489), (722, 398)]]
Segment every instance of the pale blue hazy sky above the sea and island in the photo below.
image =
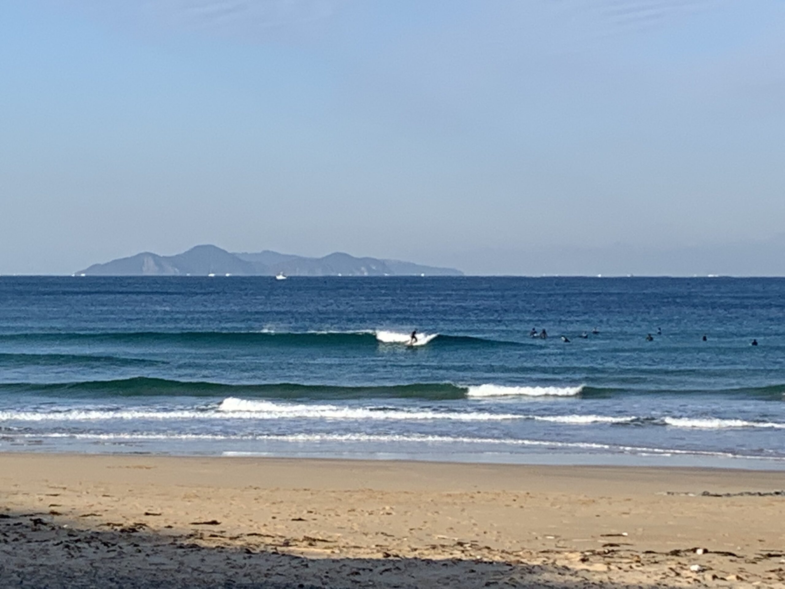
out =
[(0, 273), (197, 243), (645, 273), (783, 221), (783, 0), (0, 2)]

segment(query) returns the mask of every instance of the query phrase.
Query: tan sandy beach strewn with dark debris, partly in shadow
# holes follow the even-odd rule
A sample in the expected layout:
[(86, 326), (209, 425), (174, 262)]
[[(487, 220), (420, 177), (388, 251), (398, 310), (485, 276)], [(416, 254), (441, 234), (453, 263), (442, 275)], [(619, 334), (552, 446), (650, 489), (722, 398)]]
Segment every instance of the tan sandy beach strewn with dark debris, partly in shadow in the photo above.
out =
[(785, 587), (781, 489), (743, 470), (0, 454), (0, 587)]

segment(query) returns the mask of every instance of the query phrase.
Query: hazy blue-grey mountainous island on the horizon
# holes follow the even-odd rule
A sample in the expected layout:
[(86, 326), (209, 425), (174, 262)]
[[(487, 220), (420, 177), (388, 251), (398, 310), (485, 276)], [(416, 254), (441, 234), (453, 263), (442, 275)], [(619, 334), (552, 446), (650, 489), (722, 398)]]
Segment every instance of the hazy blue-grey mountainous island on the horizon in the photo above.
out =
[(199, 245), (182, 254), (162, 256), (145, 251), (130, 258), (93, 264), (84, 276), (462, 276), (460, 270), (378, 258), (355, 258), (336, 252), (305, 258), (276, 251), (232, 253)]

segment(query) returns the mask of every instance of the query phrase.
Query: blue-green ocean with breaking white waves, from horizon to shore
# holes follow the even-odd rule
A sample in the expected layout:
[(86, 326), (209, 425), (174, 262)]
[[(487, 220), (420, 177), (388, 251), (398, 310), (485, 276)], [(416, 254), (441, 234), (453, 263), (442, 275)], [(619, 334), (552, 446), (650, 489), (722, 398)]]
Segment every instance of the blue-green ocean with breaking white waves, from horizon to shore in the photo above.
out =
[(0, 452), (783, 469), (783, 328), (776, 278), (2, 276)]

